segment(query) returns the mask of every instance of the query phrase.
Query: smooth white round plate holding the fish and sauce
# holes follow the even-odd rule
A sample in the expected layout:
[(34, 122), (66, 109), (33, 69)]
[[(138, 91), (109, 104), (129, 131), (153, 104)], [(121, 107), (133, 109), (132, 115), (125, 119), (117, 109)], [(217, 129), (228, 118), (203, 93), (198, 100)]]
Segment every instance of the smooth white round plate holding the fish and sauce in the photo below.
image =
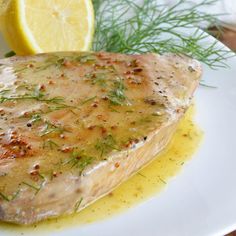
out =
[[(2, 56), (7, 48), (1, 39), (0, 46)], [(204, 67), (204, 80), (217, 87), (196, 94), (204, 142), (166, 190), (105, 221), (48, 235), (222, 236), (236, 229), (236, 58), (228, 64), (216, 71)]]

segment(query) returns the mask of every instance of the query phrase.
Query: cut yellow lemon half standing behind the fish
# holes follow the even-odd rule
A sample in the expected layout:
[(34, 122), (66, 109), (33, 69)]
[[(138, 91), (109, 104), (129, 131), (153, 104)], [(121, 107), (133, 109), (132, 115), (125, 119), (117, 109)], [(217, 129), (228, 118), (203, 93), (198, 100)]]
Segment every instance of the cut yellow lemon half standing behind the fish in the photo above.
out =
[(1, 31), (18, 55), (87, 51), (94, 31), (91, 0), (11, 0)]

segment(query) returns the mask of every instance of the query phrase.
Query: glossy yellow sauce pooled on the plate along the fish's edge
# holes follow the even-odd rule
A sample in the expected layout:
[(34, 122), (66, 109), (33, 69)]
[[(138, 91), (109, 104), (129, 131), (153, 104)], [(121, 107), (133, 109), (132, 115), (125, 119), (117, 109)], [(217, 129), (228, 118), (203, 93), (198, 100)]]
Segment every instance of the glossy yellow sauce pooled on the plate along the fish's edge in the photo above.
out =
[(186, 113), (168, 147), (138, 174), (123, 183), (108, 196), (103, 197), (80, 213), (58, 219), (47, 220), (25, 227), (1, 223), (1, 232), (7, 235), (30, 233), (47, 235), (68, 227), (78, 227), (104, 220), (137, 205), (162, 190), (171, 177), (175, 176), (184, 163), (191, 159), (199, 147), (203, 132), (193, 121), (194, 107)]

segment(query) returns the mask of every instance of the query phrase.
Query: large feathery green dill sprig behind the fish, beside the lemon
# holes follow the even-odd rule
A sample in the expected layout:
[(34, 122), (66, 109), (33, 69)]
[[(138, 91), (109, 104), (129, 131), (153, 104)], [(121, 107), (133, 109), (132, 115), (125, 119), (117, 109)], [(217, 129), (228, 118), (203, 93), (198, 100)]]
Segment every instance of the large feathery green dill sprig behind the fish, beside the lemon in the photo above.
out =
[[(157, 0), (94, 0), (96, 30), (93, 49), (119, 53), (186, 54), (215, 69), (226, 66), (235, 54), (219, 46), (199, 29), (199, 23), (218, 24), (216, 15), (199, 10), (216, 0), (202, 0), (189, 6), (179, 0), (172, 7)], [(186, 29), (188, 33), (186, 33)]]

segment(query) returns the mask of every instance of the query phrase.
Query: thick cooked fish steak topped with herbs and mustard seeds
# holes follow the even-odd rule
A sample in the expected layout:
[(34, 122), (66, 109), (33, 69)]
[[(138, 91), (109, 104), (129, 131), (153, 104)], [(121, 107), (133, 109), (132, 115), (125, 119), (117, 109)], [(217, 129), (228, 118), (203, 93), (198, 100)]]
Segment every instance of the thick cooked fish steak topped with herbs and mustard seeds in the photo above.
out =
[(167, 145), (200, 76), (174, 54), (0, 60), (0, 219), (32, 224), (111, 192)]

